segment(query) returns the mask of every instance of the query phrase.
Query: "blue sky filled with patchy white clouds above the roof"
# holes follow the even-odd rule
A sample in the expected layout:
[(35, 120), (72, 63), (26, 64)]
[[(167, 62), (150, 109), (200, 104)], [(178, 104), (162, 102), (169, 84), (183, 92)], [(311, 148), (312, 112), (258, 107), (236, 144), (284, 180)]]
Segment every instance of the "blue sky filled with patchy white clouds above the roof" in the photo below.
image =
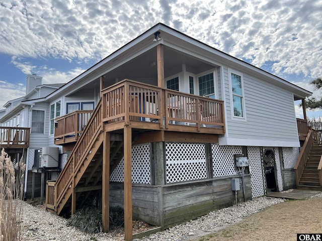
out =
[(313, 91), (321, 13), (322, 0), (0, 0), (0, 109), (27, 74), (67, 82), (159, 22)]

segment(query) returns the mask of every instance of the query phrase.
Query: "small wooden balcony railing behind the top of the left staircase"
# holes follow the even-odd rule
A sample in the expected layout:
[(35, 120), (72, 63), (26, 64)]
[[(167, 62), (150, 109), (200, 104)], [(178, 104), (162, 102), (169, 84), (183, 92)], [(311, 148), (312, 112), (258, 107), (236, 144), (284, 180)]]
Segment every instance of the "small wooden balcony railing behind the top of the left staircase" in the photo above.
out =
[(55, 141), (65, 142), (66, 138), (77, 141), (86, 127), (93, 110), (76, 110), (55, 119), (57, 127), (54, 130)]

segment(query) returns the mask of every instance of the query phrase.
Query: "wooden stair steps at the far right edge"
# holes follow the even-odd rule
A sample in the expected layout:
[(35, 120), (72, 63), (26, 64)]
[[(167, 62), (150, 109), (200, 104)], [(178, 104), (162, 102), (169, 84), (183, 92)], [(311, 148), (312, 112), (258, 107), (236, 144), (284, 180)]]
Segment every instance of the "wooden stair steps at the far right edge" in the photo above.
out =
[(321, 156), (322, 147), (313, 145), (300, 176), (298, 189), (322, 191), (317, 170)]

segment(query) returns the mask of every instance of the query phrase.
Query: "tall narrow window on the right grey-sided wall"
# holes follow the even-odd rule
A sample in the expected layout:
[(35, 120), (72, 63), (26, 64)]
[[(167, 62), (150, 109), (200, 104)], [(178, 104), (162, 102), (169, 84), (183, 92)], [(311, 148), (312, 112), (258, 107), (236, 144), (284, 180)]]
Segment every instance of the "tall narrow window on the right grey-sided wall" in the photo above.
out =
[(232, 113), (235, 117), (245, 117), (243, 75), (230, 72), (230, 84), (232, 94)]

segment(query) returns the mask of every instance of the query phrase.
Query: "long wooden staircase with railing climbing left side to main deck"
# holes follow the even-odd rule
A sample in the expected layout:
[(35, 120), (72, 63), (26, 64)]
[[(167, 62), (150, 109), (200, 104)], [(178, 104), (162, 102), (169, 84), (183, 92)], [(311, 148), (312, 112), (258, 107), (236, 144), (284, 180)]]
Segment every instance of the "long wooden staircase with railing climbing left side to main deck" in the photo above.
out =
[[(46, 210), (68, 216), (72, 212), (72, 202), (76, 208), (93, 202), (96, 197), (98, 201), (97, 194), (102, 190), (103, 145), (100, 101), (58, 179), (47, 185)], [(124, 156), (123, 147), (123, 135), (111, 133), (110, 174)]]

